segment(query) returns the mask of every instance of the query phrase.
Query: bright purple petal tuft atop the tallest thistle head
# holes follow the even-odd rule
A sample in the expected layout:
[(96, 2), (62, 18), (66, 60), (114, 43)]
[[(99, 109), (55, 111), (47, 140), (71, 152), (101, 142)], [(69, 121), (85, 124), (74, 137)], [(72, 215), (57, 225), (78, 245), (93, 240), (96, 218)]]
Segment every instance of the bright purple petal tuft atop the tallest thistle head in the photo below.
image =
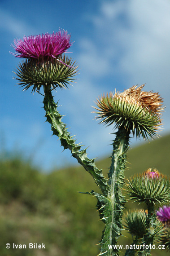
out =
[(70, 42), (71, 35), (67, 31), (60, 30), (59, 32), (24, 36), (22, 39), (14, 39), (14, 45), (11, 46), (19, 54), (12, 53), (19, 58), (56, 58), (58, 55), (65, 53), (72, 45)]

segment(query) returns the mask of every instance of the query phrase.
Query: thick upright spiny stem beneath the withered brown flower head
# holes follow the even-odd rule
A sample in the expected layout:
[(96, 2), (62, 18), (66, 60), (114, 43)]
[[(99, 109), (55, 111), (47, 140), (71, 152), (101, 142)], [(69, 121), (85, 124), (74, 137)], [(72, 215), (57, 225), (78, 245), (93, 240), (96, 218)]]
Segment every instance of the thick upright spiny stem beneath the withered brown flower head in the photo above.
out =
[[(124, 170), (126, 164), (126, 151), (129, 148), (130, 131), (119, 128), (113, 141), (112, 163), (109, 171), (108, 203), (105, 205), (105, 230), (101, 240), (101, 253), (108, 256), (118, 256), (118, 249), (112, 247), (108, 251), (108, 245), (116, 245), (121, 236), (122, 213), (125, 199), (122, 196), (124, 185)], [(106, 251), (107, 250), (107, 251)]]

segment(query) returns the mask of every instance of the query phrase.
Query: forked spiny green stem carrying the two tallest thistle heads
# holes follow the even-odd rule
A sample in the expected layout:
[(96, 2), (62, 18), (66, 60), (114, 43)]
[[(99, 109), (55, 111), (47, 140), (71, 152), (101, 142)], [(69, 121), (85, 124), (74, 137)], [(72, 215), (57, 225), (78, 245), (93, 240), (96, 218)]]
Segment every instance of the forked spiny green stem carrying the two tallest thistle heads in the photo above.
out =
[(75, 139), (70, 136), (66, 125), (61, 121), (62, 116), (57, 111), (57, 104), (53, 101), (51, 91), (46, 89), (44, 93), (45, 116), (51, 124), (53, 134), (59, 137), (64, 149), (70, 149), (72, 156), (92, 175), (103, 193), (103, 195), (97, 194), (94, 191), (88, 193), (96, 196), (101, 220), (105, 223), (99, 255), (118, 256), (118, 249), (109, 249), (108, 246), (117, 244), (122, 230), (122, 212), (125, 203), (125, 199), (122, 196), (122, 186), (124, 184), (126, 151), (129, 145), (130, 131), (119, 128), (118, 132), (116, 132), (116, 138), (113, 141), (112, 164), (107, 184), (102, 170), (96, 168), (94, 159), (88, 159), (86, 150), (80, 150), (81, 146), (76, 144)]

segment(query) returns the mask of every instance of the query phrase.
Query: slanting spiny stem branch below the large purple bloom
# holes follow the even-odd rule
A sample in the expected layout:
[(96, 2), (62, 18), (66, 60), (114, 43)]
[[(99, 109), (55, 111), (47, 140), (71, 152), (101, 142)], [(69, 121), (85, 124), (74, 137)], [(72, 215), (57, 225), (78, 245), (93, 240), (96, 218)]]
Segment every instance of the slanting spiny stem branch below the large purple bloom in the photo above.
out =
[(62, 116), (57, 111), (57, 104), (54, 102), (52, 93), (50, 90), (44, 90), (44, 109), (46, 111), (47, 121), (51, 124), (53, 135), (57, 135), (61, 141), (61, 146), (64, 149), (69, 149), (72, 156), (78, 160), (87, 172), (89, 172), (94, 178), (96, 184), (100, 187), (100, 190), (104, 195), (107, 195), (108, 185), (107, 181), (103, 177), (102, 170), (99, 170), (94, 162), (94, 159), (88, 159), (86, 150), (80, 150), (81, 146), (75, 143), (73, 136), (70, 136), (70, 132), (67, 131), (66, 124), (61, 119)]

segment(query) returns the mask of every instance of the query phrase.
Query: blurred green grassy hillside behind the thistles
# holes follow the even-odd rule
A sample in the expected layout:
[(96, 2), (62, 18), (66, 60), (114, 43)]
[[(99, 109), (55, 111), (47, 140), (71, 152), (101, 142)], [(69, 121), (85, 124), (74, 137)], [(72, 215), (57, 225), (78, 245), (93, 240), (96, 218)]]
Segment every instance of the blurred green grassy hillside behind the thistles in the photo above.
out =
[[(129, 169), (149, 167), (169, 174), (170, 135), (129, 150)], [(110, 158), (97, 162), (107, 175)], [(38, 172), (19, 158), (0, 162), (0, 256), (95, 256), (104, 225), (96, 212), (96, 199), (80, 194), (98, 188), (81, 167)], [(136, 207), (134, 203), (126, 207)], [(139, 206), (138, 206), (139, 207)], [(126, 236), (128, 234), (124, 233)], [(26, 244), (26, 249), (7, 249), (6, 243)], [(45, 249), (29, 249), (29, 243), (44, 243)], [(119, 244), (131, 244), (124, 237)], [(123, 255), (123, 254), (122, 254)], [(153, 251), (154, 256), (169, 253)]]

